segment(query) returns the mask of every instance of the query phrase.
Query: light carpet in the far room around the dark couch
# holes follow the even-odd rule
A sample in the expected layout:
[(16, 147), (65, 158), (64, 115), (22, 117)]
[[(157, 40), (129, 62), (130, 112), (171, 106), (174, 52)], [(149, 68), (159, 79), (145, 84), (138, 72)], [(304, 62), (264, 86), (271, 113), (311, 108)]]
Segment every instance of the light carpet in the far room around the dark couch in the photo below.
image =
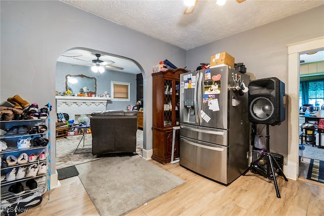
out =
[[(64, 139), (56, 140), (56, 169), (64, 167), (86, 163), (93, 160), (99, 160), (102, 158), (96, 158), (96, 155), (92, 155), (92, 136), (91, 134), (85, 135), (85, 146), (83, 147), (83, 141), (80, 143), (78, 149), (74, 153), (82, 135), (68, 136)], [(137, 130), (136, 134), (136, 152), (142, 156), (143, 149), (143, 131)]]

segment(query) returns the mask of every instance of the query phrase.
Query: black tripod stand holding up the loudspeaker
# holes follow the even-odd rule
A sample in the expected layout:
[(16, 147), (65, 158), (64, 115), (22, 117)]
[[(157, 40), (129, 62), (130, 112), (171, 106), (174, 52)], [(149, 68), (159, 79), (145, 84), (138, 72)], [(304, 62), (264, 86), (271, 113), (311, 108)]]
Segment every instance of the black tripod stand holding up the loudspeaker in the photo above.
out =
[[(276, 177), (275, 177), (274, 168), (277, 168), (279, 174), (281, 174), (281, 176), (284, 177), (286, 182), (288, 182), (288, 179), (286, 178), (286, 176), (284, 174), (284, 171), (282, 171), (282, 169), (279, 166), (278, 162), (275, 160), (272, 153), (270, 152), (269, 124), (266, 124), (266, 129), (267, 129), (267, 134), (266, 134), (266, 137), (265, 137), (266, 138), (266, 148), (267, 148), (266, 152), (263, 152), (261, 154), (261, 156), (256, 161), (251, 163), (250, 167), (242, 175), (245, 176), (249, 170), (255, 169), (255, 170), (257, 170), (258, 174), (260, 174), (264, 178), (267, 178), (267, 179), (270, 179), (270, 180), (273, 178), (275, 192), (277, 194), (277, 197), (281, 198), (280, 193), (279, 193), (277, 180), (276, 180)], [(262, 158), (264, 158), (266, 160), (266, 165), (267, 165), (266, 170), (264, 170), (264, 169), (262, 169), (262, 168), (260, 168), (258, 166), (258, 162)]]

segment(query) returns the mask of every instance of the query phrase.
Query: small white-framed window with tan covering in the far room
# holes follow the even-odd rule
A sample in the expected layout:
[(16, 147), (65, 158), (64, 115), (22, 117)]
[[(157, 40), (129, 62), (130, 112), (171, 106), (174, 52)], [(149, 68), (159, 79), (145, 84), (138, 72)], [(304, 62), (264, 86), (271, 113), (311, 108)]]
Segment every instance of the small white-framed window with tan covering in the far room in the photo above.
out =
[(131, 83), (110, 81), (111, 100), (112, 101), (130, 101), (131, 100)]

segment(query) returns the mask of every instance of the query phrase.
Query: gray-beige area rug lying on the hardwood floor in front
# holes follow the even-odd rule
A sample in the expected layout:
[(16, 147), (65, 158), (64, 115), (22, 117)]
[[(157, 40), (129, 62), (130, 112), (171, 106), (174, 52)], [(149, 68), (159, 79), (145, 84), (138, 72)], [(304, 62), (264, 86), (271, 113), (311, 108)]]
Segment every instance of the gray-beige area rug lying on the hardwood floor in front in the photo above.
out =
[(76, 165), (100, 215), (123, 215), (184, 180), (139, 157), (107, 157)]

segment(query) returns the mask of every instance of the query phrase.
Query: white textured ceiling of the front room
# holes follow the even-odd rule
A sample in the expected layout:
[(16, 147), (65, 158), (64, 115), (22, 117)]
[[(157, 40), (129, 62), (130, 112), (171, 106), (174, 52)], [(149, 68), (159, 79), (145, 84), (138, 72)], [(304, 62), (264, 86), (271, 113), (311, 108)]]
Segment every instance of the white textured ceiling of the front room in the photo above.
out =
[[(324, 0), (199, 0), (184, 15), (183, 1), (74, 1), (67, 4), (189, 50), (324, 4)], [(172, 33), (170, 33), (172, 32)]]

